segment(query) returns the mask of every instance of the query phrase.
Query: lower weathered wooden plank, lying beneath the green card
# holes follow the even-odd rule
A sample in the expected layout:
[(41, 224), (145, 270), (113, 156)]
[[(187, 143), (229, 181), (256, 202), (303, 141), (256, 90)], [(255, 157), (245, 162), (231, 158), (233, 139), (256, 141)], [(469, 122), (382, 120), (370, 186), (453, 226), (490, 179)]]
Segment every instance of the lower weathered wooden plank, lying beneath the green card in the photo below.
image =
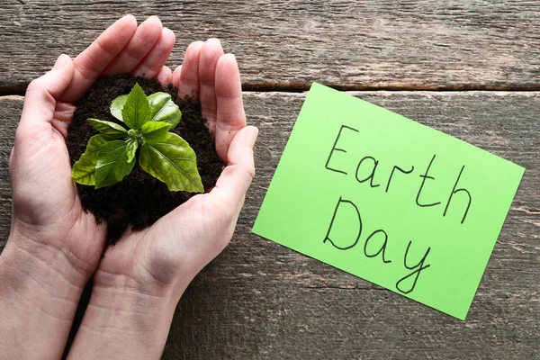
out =
[[(184, 294), (164, 359), (540, 356), (540, 92), (354, 93), (527, 167), (466, 321), (250, 233), (304, 94), (247, 93), (257, 176), (229, 247)], [(22, 98), (0, 98), (0, 238)]]

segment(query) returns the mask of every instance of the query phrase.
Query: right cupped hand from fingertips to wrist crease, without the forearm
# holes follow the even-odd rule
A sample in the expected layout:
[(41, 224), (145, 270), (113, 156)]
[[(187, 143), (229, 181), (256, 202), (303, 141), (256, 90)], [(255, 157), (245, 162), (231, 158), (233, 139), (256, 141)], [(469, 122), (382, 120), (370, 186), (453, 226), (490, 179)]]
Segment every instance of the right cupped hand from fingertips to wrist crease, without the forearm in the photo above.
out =
[[(101, 261), (94, 286), (162, 287), (176, 301), (193, 276), (227, 246), (255, 173), (257, 128), (246, 126), (238, 64), (220, 40), (193, 42), (172, 74), (181, 96), (201, 102), (202, 116), (227, 163), (210, 193), (193, 196), (148, 229), (128, 230)], [(147, 290), (148, 290), (147, 289)]]

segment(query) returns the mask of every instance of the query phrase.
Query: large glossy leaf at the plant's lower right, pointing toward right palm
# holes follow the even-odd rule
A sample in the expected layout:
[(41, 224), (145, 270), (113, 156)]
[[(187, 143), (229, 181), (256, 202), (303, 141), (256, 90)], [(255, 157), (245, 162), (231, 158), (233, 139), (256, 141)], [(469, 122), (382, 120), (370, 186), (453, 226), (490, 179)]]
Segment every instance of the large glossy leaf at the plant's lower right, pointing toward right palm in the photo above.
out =
[(169, 132), (156, 143), (143, 143), (139, 165), (164, 182), (169, 191), (204, 192), (195, 152), (176, 134)]

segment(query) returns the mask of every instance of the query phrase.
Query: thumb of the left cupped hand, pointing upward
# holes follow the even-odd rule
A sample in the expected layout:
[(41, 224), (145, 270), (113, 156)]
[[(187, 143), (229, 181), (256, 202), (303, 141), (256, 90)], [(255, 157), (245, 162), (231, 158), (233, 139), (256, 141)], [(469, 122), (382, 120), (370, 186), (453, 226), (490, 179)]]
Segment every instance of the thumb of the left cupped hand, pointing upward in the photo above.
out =
[(54, 67), (43, 76), (33, 80), (24, 96), (23, 114), (19, 124), (19, 134), (24, 132), (23, 139), (28, 138), (28, 131), (39, 133), (50, 130), (57, 98), (64, 93), (74, 76), (74, 64), (71, 58), (62, 54)]

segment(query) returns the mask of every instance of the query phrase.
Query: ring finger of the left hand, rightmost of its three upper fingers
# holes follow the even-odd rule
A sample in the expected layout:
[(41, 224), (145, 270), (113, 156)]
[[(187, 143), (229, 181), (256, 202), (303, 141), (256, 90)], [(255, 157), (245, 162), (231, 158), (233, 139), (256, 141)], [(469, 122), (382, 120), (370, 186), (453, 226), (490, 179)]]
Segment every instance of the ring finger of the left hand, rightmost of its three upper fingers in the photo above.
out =
[(170, 29), (163, 28), (156, 45), (135, 69), (135, 76), (144, 76), (149, 79), (156, 77), (161, 67), (165, 65), (169, 55), (171, 55), (171, 51), (175, 47), (175, 40), (175, 33)]

